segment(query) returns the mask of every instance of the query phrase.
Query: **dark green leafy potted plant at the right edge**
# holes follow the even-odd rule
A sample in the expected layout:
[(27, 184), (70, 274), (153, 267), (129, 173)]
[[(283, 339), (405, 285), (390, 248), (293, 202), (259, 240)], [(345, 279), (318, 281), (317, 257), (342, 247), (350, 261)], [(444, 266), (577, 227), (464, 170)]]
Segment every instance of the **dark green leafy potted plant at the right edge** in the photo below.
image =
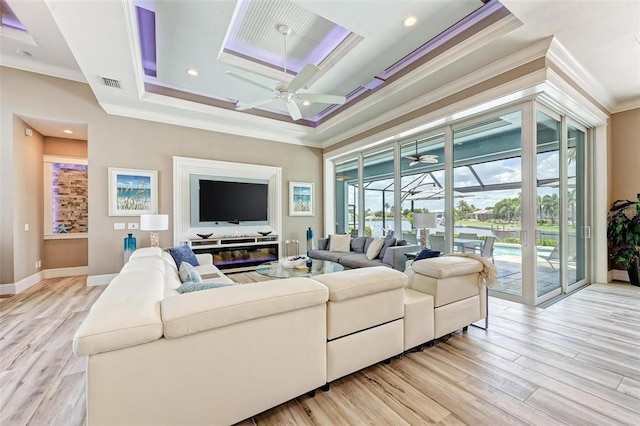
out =
[(638, 201), (617, 200), (609, 209), (607, 225), (609, 258), (629, 273), (629, 282), (640, 286), (640, 194)]

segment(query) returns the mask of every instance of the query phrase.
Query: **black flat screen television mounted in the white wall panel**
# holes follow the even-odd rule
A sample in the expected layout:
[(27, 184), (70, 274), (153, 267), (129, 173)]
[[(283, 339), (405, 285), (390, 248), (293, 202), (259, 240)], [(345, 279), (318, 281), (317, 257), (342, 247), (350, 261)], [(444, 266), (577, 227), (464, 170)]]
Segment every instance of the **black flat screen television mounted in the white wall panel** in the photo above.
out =
[(269, 184), (200, 179), (200, 222), (266, 222)]

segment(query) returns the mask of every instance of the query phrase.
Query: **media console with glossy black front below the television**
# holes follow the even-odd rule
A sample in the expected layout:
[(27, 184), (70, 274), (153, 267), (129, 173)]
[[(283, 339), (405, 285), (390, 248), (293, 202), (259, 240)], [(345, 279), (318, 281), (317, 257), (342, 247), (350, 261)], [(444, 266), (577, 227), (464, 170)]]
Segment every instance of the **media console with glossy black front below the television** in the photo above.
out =
[(254, 270), (261, 263), (279, 258), (278, 235), (193, 238), (188, 244), (194, 253), (210, 253), (213, 264), (228, 272)]

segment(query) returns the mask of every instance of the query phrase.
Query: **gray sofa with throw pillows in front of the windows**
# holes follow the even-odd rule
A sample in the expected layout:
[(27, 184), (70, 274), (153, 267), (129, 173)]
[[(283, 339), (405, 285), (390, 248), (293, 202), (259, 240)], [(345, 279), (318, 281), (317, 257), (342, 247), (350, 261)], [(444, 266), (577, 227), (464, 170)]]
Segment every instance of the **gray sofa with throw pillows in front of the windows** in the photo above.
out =
[(374, 237), (357, 237), (350, 241), (351, 251), (330, 251), (329, 238), (318, 239), (317, 249), (309, 251), (312, 259), (330, 260), (337, 262), (346, 269), (366, 268), (370, 266), (388, 266), (398, 271), (404, 271), (407, 258), (405, 253), (418, 251), (419, 246), (407, 244), (405, 240), (394, 242), (383, 248), (380, 255), (372, 260), (367, 258), (366, 252)]

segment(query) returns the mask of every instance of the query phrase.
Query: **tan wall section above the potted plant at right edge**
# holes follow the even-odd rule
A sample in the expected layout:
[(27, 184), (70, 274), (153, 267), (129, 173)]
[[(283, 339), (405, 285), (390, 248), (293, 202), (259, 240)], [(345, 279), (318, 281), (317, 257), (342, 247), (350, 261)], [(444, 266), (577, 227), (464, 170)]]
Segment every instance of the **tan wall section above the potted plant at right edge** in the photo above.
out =
[(640, 108), (611, 116), (611, 202), (640, 194)]

